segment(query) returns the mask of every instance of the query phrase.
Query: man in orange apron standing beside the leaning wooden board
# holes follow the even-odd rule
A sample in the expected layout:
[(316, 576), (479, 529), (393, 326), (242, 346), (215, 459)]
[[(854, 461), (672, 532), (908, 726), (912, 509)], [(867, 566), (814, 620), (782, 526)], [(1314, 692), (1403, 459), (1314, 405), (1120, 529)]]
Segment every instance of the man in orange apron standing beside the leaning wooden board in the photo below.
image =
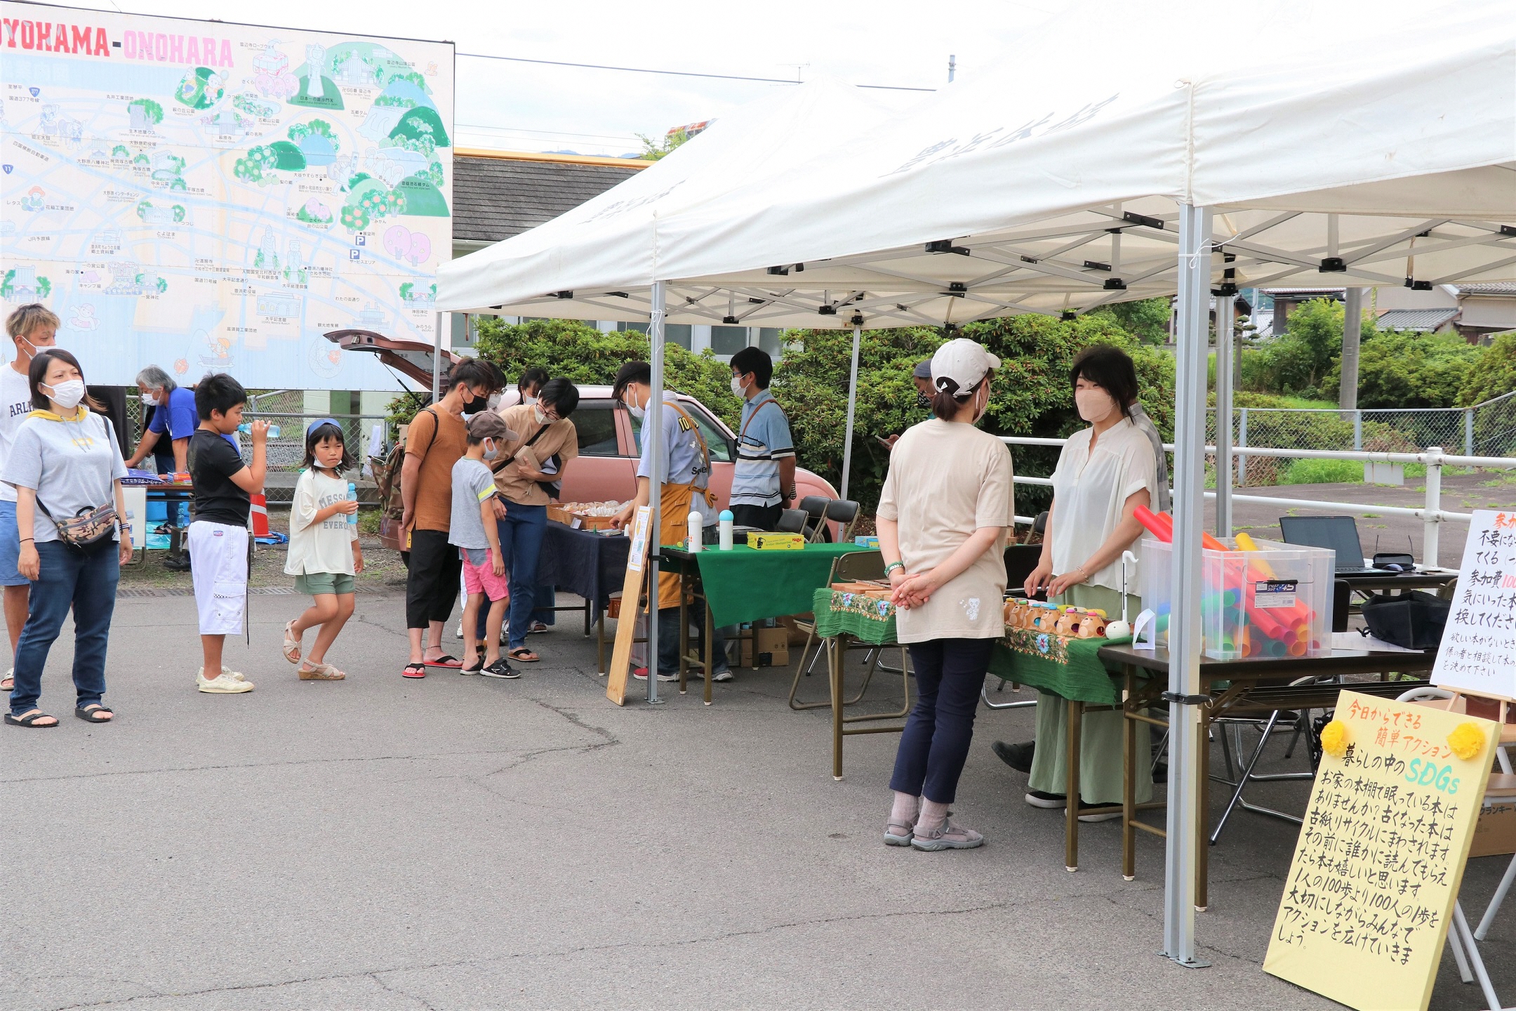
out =
[[(620, 400), (632, 417), (641, 423), (647, 403), (652, 400), (652, 367), (647, 362), (626, 362), (615, 373), (612, 396)], [(673, 391), (664, 391), (662, 438), (659, 470), (661, 517), (658, 523), (659, 544), (681, 544), (690, 532), (690, 512), (699, 511), (706, 524), (716, 518), (716, 497), (709, 493), (711, 453), (705, 446), (700, 427), (690, 412), (679, 405)], [(637, 497), (626, 503), (614, 517), (617, 527), (625, 527), (637, 515), (637, 509), (652, 497), (652, 440), (640, 430), (641, 461), (637, 464)], [(731, 681), (732, 671), (726, 662), (726, 638), (720, 631), (714, 635), (716, 681)], [(637, 675), (646, 678), (646, 673)], [(679, 577), (658, 573), (658, 681), (679, 681)]]

